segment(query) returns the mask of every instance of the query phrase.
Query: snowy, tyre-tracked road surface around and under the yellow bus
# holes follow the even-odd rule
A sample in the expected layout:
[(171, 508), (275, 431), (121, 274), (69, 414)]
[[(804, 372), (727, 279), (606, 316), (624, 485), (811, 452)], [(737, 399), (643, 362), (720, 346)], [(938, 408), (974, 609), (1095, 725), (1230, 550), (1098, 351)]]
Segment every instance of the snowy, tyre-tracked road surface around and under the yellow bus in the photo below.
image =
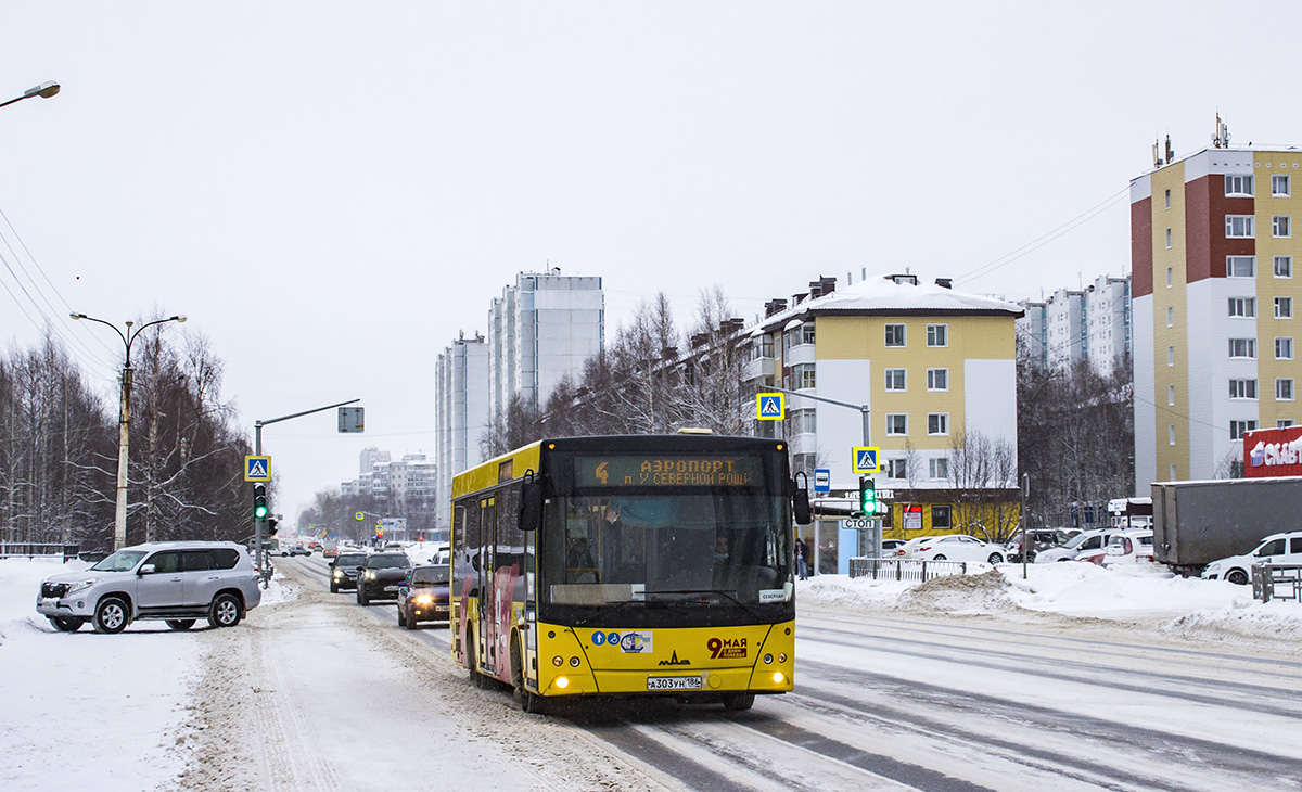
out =
[(1302, 788), (1302, 660), (1268, 645), (801, 606), (793, 694), (742, 714), (603, 702), (539, 718), (474, 689), (445, 628), (402, 630), (392, 606), (328, 594), (316, 558), (280, 568), (302, 595), (214, 636), (242, 658), (214, 688), (249, 676), (254, 694), (203, 711), (253, 739), (204, 744), (187, 788), (379, 789), (424, 772), (566, 789)]

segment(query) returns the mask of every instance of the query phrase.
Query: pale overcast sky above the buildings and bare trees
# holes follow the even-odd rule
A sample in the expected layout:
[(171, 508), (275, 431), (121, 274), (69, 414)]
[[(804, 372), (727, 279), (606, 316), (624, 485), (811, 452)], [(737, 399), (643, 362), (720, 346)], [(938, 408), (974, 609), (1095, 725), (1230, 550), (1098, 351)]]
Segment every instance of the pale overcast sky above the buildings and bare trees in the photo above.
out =
[(49, 317), (116, 409), (121, 341), (68, 306), (185, 313), (168, 332), (211, 339), (250, 438), (361, 397), (365, 435), (333, 412), (264, 430), (293, 518), (366, 446), (432, 455), (435, 356), (519, 271), (600, 275), (608, 336), (658, 290), (686, 323), (713, 284), (751, 319), (863, 267), (1013, 300), (1129, 272), (1155, 138), (1197, 151), (1219, 111), (1234, 143), (1302, 145), (1299, 22), (1295, 1), (5, 1), (0, 100), (62, 92), (0, 108), (0, 254), (40, 289), (0, 264), (0, 340)]

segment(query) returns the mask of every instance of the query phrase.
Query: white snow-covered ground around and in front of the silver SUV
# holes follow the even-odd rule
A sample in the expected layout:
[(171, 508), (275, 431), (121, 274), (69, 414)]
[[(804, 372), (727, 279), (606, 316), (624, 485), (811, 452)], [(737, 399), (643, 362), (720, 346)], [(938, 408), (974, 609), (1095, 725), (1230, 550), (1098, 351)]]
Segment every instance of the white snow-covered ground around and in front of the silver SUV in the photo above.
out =
[(116, 636), (60, 633), (36, 614), (40, 581), (89, 564), (0, 560), (0, 787), (172, 788), (195, 634), (141, 621)]

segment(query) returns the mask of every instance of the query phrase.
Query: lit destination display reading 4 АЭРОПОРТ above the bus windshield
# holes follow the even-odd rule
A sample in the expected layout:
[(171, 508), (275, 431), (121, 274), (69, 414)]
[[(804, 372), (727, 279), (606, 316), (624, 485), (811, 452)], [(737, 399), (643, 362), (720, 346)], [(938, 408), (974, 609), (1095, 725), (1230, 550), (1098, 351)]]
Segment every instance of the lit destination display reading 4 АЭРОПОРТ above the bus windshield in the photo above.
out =
[(754, 456), (581, 456), (581, 487), (758, 487), (764, 465)]

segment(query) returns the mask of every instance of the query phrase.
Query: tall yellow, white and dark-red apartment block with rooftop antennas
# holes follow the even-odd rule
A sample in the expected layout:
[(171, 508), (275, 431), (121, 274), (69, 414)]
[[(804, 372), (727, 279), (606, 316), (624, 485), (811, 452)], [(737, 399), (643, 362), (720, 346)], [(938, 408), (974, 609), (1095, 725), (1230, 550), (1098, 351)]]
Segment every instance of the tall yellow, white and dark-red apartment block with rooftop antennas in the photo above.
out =
[(1139, 495), (1154, 481), (1237, 474), (1245, 431), (1302, 413), (1292, 220), (1302, 151), (1229, 148), (1221, 133), (1130, 182)]

